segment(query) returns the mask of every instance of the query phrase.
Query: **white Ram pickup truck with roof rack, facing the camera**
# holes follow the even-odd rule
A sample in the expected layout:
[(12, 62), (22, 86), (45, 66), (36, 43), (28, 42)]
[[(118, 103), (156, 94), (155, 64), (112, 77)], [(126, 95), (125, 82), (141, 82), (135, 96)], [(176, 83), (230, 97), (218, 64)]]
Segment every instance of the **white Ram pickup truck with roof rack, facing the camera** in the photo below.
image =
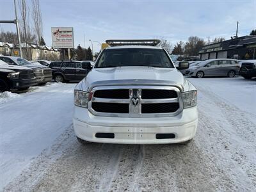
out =
[[(197, 92), (159, 40), (107, 40), (74, 90), (81, 143), (188, 143), (198, 123)], [(188, 68), (180, 62), (179, 69)]]

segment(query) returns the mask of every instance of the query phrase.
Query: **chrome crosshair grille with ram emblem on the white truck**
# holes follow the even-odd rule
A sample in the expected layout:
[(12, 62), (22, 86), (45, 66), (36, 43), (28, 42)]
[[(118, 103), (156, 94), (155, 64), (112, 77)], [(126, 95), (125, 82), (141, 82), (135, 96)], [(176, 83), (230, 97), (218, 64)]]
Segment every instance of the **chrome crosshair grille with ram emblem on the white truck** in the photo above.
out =
[(88, 109), (97, 116), (173, 116), (182, 111), (179, 88), (104, 86), (93, 89)]

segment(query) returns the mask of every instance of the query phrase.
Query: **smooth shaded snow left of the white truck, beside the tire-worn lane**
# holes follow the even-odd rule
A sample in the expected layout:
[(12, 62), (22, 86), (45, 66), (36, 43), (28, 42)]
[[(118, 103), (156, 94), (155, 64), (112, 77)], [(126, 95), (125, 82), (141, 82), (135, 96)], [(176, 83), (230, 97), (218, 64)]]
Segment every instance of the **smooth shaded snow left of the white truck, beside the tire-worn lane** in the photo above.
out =
[(70, 127), (75, 84), (0, 93), (0, 189)]

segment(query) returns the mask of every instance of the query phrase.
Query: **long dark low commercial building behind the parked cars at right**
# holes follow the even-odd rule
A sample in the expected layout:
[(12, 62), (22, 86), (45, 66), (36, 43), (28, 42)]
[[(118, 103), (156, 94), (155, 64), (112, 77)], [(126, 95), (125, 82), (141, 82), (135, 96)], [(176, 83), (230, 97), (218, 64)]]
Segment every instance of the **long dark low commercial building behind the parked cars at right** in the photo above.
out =
[(201, 60), (216, 58), (255, 60), (256, 35), (241, 36), (223, 42), (205, 45), (198, 54)]

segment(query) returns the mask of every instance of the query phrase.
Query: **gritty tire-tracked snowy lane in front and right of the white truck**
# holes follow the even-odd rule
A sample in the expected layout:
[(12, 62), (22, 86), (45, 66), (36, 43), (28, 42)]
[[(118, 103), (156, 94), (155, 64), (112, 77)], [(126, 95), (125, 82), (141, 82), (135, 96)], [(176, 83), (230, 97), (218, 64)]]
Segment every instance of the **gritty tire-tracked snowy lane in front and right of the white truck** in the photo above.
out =
[[(198, 87), (200, 120), (188, 145), (81, 145), (68, 127), (4, 190), (255, 191), (256, 115), (207, 88), (209, 79), (191, 81)], [(232, 81), (210, 82), (220, 83)], [(255, 94), (253, 83), (241, 81), (237, 88), (252, 85)]]

